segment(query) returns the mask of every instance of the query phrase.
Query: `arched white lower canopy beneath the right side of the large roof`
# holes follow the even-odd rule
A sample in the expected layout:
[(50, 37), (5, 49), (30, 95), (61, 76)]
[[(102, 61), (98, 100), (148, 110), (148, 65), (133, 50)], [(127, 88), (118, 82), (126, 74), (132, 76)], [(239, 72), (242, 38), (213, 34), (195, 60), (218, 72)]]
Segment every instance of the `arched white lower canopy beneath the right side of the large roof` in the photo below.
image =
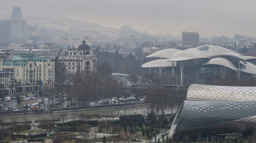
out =
[(209, 61), (206, 61), (206, 63), (204, 63), (203, 66), (204, 65), (209, 65), (209, 64), (216, 64), (216, 65), (228, 67), (228, 68), (230, 68), (232, 70), (236, 70), (237, 71), (237, 68), (234, 66), (234, 64), (232, 64), (226, 58), (221, 58), (221, 57), (212, 58)]

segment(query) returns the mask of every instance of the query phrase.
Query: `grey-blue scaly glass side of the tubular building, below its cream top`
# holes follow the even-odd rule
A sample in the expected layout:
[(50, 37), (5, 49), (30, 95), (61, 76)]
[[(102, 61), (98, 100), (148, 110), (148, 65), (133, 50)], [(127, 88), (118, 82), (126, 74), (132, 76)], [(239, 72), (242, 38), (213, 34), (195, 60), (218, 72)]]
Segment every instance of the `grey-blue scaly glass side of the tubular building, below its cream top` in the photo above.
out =
[(256, 101), (184, 101), (176, 132), (218, 123), (256, 123)]

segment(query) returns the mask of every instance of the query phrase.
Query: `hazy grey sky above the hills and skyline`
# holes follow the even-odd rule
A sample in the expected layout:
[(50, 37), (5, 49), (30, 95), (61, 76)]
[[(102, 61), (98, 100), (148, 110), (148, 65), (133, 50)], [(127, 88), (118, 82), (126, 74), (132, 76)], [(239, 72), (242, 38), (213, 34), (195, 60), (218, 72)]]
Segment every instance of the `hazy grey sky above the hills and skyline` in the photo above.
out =
[(255, 5), (255, 0), (0, 0), (0, 16), (11, 18), (19, 6), (24, 19), (59, 15), (117, 29), (129, 25), (153, 35), (181, 37), (187, 31), (201, 38), (233, 38), (256, 37)]

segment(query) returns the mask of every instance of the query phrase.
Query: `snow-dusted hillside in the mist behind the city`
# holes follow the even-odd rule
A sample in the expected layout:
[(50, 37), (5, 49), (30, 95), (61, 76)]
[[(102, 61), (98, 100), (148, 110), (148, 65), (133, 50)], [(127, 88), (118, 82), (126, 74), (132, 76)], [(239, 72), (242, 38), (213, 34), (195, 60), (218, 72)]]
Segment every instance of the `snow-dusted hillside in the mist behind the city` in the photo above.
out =
[(61, 36), (70, 38), (98, 37), (105, 38), (106, 41), (115, 41), (115, 38), (119, 37), (149, 36), (148, 33), (137, 32), (129, 26), (123, 26), (119, 30), (67, 17), (31, 17), (26, 21), (29, 25), (37, 25), (38, 30), (46, 30), (47, 35), (56, 40)]

